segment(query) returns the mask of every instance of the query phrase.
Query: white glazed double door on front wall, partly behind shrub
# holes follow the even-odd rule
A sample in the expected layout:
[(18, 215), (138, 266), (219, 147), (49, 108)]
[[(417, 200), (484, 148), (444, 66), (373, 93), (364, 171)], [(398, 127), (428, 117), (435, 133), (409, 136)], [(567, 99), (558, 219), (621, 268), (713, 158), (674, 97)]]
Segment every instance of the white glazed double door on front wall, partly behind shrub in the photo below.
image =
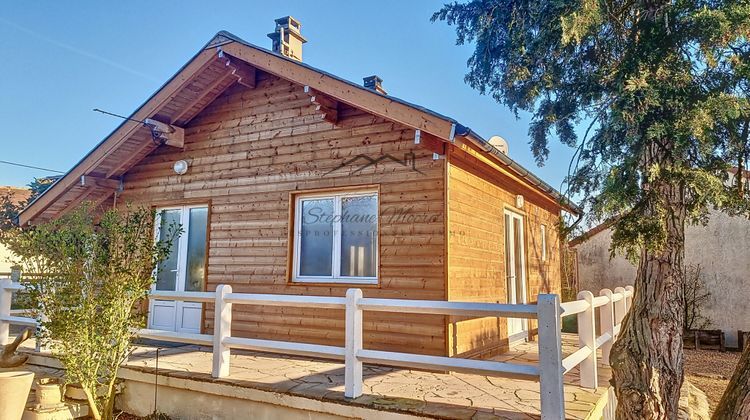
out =
[[(182, 234), (172, 239), (167, 259), (156, 268), (153, 290), (201, 292), (204, 289), (206, 265), (206, 206), (162, 208), (156, 212), (156, 238), (166, 240), (170, 227), (182, 227)], [(196, 302), (151, 300), (149, 328), (200, 333), (203, 306)]]

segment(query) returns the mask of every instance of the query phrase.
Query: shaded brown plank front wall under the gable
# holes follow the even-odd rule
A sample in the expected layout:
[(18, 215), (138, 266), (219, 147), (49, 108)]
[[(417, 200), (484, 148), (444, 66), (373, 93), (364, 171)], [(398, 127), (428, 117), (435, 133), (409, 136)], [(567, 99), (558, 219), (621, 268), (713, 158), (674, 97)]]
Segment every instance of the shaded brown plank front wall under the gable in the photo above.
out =
[[(121, 203), (210, 203), (207, 290), (344, 296), (347, 286), (288, 282), (290, 195), (354, 185), (380, 187), (380, 284), (366, 297), (445, 299), (444, 160), (414, 145), (414, 131), (340, 105), (337, 126), (321, 121), (303, 87), (259, 73), (235, 85), (185, 129), (183, 151), (162, 146), (125, 176)], [(357, 174), (326, 172), (358, 154), (402, 159)], [(186, 159), (190, 169), (175, 175)], [(406, 209), (420, 221), (384, 217)], [(355, 286), (357, 287), (357, 286)], [(233, 334), (343, 345), (343, 311), (235, 306)], [(212, 329), (205, 310), (204, 330)], [(365, 314), (365, 347), (445, 354), (445, 317)]]

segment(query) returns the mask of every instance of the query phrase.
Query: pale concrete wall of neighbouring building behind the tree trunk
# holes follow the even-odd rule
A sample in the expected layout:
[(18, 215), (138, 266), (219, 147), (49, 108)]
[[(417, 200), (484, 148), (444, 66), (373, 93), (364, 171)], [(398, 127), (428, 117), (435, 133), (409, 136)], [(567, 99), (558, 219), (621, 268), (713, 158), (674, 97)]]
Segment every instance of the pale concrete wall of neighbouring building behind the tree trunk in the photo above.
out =
[[(622, 256), (609, 258), (609, 229), (577, 245), (580, 290), (599, 291), (633, 284), (635, 267)], [(711, 298), (703, 315), (737, 346), (737, 330), (750, 330), (750, 221), (712, 212), (706, 226), (688, 226), (685, 264), (702, 267)]]

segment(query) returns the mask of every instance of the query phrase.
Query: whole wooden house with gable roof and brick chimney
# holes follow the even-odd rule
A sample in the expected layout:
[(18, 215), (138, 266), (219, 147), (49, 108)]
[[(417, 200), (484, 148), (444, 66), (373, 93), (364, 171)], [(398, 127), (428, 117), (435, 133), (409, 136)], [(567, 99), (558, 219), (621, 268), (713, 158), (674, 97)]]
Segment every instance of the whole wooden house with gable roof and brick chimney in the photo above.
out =
[[(185, 233), (158, 290), (476, 302), (559, 293), (560, 195), (457, 121), (221, 32), (34, 201), (22, 226), (82, 201), (159, 210)], [(332, 46), (333, 47), (333, 46)], [(507, 152), (507, 150), (506, 150)], [(158, 234), (158, 233), (157, 233)], [(233, 334), (343, 343), (335, 310), (236, 307)], [(213, 308), (152, 303), (151, 328), (210, 331)], [(533, 333), (506, 319), (365, 314), (365, 346), (482, 356)]]

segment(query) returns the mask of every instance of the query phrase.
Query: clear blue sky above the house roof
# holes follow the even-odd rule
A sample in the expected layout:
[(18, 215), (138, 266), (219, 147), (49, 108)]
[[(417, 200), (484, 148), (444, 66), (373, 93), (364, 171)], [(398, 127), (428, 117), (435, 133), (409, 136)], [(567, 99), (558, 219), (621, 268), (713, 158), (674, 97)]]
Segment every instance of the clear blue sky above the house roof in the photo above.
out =
[[(538, 168), (528, 116), (517, 120), (463, 76), (470, 46), (429, 18), (439, 1), (34, 1), (0, 10), (0, 160), (67, 171), (219, 30), (270, 48), (275, 18), (292, 15), (308, 39), (306, 63), (361, 82), (378, 74), (389, 93), (449, 115), (555, 188), (572, 151), (555, 142)], [(0, 185), (48, 172), (0, 164)]]

